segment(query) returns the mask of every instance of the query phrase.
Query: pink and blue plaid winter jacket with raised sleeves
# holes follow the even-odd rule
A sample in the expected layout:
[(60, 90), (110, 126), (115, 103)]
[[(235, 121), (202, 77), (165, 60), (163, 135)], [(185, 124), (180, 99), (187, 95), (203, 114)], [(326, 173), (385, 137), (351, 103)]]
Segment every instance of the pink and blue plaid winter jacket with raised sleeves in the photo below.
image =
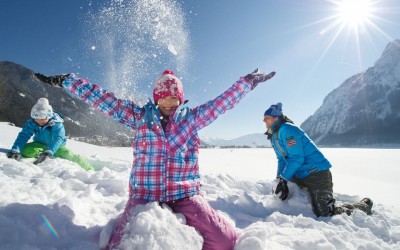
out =
[(152, 101), (140, 107), (121, 100), (100, 86), (71, 74), (64, 88), (83, 101), (135, 130), (133, 166), (130, 174), (132, 198), (167, 202), (198, 194), (200, 175), (197, 132), (220, 114), (233, 108), (251, 89), (240, 78), (220, 96), (195, 108), (180, 105), (170, 115), (165, 132), (160, 111)]

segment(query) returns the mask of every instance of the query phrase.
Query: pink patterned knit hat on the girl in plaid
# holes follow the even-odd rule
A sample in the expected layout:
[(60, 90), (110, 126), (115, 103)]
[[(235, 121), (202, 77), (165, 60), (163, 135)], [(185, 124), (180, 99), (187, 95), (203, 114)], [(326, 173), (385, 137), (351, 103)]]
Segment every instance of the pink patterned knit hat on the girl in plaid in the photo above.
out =
[(168, 96), (175, 96), (183, 103), (183, 85), (171, 70), (164, 70), (161, 77), (154, 83), (153, 98), (154, 103)]

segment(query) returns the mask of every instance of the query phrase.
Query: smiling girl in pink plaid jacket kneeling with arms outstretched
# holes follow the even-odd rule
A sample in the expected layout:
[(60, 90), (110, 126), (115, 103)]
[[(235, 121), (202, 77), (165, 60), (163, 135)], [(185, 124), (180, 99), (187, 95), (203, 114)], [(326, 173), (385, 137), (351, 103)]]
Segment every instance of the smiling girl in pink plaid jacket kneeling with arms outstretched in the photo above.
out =
[(120, 244), (131, 209), (156, 201), (186, 217), (204, 239), (203, 249), (232, 249), (235, 228), (199, 194), (198, 131), (220, 114), (232, 109), (258, 83), (273, 77), (258, 70), (241, 77), (214, 100), (195, 108), (186, 106), (181, 81), (165, 70), (154, 83), (153, 99), (143, 107), (121, 100), (100, 86), (75, 74), (36, 76), (49, 84), (63, 86), (120, 123), (136, 131), (132, 144), (133, 166), (129, 177), (129, 200), (116, 220), (107, 249)]

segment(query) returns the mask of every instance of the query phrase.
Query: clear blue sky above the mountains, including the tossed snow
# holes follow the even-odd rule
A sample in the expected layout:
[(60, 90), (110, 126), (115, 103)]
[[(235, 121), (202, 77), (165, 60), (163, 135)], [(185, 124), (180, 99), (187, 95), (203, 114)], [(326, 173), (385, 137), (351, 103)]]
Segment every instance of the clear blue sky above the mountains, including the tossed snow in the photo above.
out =
[(236, 138), (264, 132), (263, 113), (276, 102), (300, 125), (329, 92), (400, 39), (398, 0), (369, 1), (370, 12), (358, 25), (340, 21), (340, 3), (0, 1), (0, 60), (47, 75), (76, 72), (140, 101), (151, 97), (152, 82), (170, 68), (182, 78), (191, 106), (215, 98), (256, 67), (276, 71), (200, 132)]

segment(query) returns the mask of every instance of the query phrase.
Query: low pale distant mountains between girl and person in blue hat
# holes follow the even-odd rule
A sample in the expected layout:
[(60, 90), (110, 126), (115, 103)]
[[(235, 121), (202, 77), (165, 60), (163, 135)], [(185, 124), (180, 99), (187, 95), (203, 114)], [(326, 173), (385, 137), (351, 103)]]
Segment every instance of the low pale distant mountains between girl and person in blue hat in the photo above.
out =
[(201, 137), (201, 139), (208, 147), (271, 147), (267, 136), (262, 133), (249, 134), (231, 140), (211, 137)]

